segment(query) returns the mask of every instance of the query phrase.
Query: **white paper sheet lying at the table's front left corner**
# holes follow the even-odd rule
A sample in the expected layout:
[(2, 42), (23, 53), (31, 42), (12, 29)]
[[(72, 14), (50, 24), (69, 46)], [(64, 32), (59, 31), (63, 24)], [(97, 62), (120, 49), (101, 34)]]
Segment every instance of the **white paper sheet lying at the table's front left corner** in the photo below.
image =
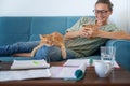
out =
[(0, 71), (0, 82), (50, 77), (50, 69)]

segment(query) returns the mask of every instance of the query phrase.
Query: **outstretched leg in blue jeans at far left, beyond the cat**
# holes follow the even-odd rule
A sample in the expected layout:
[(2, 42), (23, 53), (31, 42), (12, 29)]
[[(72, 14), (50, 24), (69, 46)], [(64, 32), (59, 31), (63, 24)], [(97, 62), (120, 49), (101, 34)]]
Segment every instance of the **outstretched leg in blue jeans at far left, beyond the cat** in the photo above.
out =
[(12, 45), (0, 46), (0, 56), (10, 56), (16, 53), (30, 53), (38, 44), (39, 41), (34, 41), (17, 42)]

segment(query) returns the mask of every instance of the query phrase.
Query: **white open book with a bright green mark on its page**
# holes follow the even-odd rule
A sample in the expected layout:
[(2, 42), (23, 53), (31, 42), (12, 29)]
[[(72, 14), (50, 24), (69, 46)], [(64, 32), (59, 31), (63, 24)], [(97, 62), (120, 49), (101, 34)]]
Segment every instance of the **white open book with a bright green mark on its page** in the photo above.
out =
[(49, 68), (44, 59), (42, 60), (14, 60), (11, 69), (32, 69), (32, 68)]

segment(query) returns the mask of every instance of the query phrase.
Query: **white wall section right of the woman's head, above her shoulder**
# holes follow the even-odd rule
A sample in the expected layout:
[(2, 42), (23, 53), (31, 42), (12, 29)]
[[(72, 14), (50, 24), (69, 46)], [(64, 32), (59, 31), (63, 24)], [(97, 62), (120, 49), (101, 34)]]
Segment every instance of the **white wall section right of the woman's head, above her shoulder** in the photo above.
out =
[(119, 28), (128, 31), (128, 10), (130, 9), (128, 3), (130, 0), (112, 0), (112, 2), (114, 3), (114, 12), (110, 20)]

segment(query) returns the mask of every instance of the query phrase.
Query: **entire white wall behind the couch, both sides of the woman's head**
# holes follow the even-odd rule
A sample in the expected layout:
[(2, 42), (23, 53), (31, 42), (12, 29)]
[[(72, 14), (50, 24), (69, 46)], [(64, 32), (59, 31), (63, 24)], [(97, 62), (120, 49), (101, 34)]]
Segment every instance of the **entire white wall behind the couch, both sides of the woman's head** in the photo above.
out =
[[(93, 15), (96, 0), (0, 0), (0, 16)], [(130, 33), (130, 0), (112, 0), (110, 22)]]

